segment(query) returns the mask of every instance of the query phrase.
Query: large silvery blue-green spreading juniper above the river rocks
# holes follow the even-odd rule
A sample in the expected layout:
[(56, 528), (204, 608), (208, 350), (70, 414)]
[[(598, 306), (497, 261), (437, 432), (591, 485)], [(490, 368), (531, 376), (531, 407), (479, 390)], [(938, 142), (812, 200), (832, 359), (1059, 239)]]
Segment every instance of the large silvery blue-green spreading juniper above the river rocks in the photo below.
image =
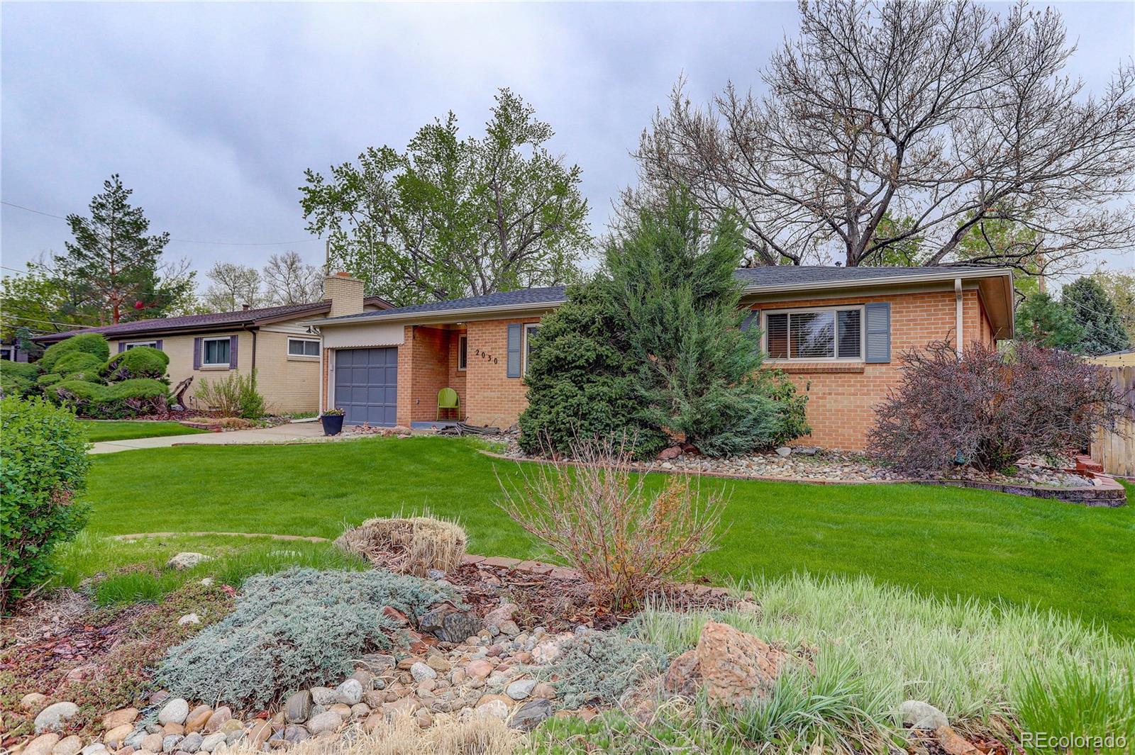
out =
[(392, 647), (389, 605), (417, 618), (454, 589), (389, 571), (288, 569), (250, 577), (236, 609), (170, 648), (157, 681), (188, 699), (266, 707), (289, 692), (335, 686), (352, 660)]

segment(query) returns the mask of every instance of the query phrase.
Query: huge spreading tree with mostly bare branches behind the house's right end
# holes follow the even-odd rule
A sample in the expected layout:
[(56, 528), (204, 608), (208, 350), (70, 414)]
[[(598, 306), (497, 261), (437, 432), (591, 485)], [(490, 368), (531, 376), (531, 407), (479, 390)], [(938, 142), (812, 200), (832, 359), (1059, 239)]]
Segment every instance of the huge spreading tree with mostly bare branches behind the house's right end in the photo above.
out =
[[(701, 108), (679, 80), (636, 152), (631, 210), (684, 184), (707, 220), (740, 213), (754, 264), (869, 264), (919, 238), (926, 264), (1035, 272), (1135, 243), (1135, 65), (1085, 92), (1062, 75), (1059, 15), (1024, 5), (819, 0), (800, 15), (765, 94), (730, 84)], [(909, 222), (888, 231), (888, 217)]]

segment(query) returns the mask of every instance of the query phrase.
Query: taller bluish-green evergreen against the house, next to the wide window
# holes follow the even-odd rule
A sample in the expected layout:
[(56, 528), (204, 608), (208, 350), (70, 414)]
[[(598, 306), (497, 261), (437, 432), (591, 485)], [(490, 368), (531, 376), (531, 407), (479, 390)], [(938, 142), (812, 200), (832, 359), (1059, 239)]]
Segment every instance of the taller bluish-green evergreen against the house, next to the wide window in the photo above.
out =
[[(709, 456), (751, 451), (804, 431), (802, 400), (777, 401), (760, 370), (757, 331), (745, 330), (745, 253), (732, 214), (706, 232), (684, 190), (642, 210), (607, 246), (608, 285), (638, 366), (647, 419)], [(790, 391), (794, 396), (794, 391)]]

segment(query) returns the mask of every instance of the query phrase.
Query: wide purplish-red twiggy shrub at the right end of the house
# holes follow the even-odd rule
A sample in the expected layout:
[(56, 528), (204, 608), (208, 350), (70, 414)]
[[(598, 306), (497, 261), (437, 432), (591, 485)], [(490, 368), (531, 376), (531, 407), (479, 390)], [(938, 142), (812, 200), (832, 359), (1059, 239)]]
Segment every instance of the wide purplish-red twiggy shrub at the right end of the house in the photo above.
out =
[(1024, 457), (1084, 449), (1127, 408), (1107, 372), (1067, 351), (1018, 343), (1009, 353), (947, 341), (903, 354), (902, 382), (876, 409), (872, 452), (902, 472), (962, 463), (997, 472)]

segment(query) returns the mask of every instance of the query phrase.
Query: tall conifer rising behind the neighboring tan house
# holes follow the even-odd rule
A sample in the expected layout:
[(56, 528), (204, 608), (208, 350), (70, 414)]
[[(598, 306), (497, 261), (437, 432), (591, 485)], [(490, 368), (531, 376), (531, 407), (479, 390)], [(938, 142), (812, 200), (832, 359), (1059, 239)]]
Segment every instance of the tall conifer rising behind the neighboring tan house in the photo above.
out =
[(162, 279), (160, 257), (169, 234), (148, 235), (150, 221), (128, 202), (117, 173), (103, 181), (91, 217), (67, 215), (74, 241), (56, 255), (57, 273), (76, 291), (79, 308), (103, 323), (161, 316), (192, 288), (191, 275)]

